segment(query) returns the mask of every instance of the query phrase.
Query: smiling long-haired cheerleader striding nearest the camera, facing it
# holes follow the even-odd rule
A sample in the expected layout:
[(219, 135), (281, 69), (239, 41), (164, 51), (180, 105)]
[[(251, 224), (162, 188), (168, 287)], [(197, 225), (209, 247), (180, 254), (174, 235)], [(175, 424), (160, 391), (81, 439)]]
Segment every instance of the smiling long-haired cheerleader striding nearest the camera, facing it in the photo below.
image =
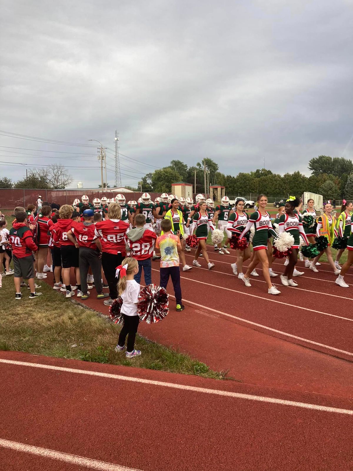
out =
[(268, 258), (267, 258), (267, 242), (268, 242), (268, 232), (270, 232), (273, 237), (277, 237), (276, 232), (273, 230), (271, 218), (268, 212), (266, 211), (267, 205), (267, 196), (259, 195), (257, 198), (257, 207), (258, 210), (251, 214), (250, 219), (243, 231), (241, 232), (240, 238), (249, 232), (250, 227), (254, 225), (255, 234), (252, 240), (252, 246), (254, 249), (254, 259), (250, 262), (249, 267), (242, 280), (246, 286), (251, 286), (249, 281), (249, 276), (252, 270), (260, 262), (262, 264), (263, 274), (265, 281), (268, 286), (269, 294), (280, 294), (281, 292), (271, 283), (270, 273), (268, 271)]

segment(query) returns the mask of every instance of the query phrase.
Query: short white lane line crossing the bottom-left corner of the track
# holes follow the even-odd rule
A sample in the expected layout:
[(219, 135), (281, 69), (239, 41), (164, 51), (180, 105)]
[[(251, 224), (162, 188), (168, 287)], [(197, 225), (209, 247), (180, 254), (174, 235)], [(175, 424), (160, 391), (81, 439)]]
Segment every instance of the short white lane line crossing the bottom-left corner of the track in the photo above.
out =
[(18, 443), (10, 440), (0, 439), (0, 447), (9, 448), (15, 451), (22, 451), (24, 453), (31, 453), (32, 455), (43, 456), (44, 458), (51, 458), (52, 460), (64, 461), (65, 463), (75, 464), (77, 466), (85, 466), (86, 468), (91, 468), (92, 470), (141, 471), (134, 468), (127, 468), (126, 466), (120, 466), (119, 464), (92, 460), (79, 455), (70, 455), (69, 453), (50, 450), (49, 448), (33, 447), (32, 445), (26, 445), (25, 443)]

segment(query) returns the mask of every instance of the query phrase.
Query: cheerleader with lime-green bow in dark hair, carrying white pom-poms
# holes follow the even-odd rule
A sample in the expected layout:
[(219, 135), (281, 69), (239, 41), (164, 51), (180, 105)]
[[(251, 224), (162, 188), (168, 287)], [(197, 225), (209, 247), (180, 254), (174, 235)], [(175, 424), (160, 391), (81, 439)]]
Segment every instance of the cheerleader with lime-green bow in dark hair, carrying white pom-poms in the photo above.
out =
[(286, 231), (294, 237), (294, 244), (291, 246), (292, 252), (288, 256), (289, 263), (286, 266), (283, 275), (281, 275), (281, 283), (284, 286), (298, 286), (298, 284), (293, 281), (293, 272), (298, 261), (299, 235), (303, 237), (305, 244), (308, 244), (308, 239), (306, 238), (303, 228), (302, 218), (297, 212), (295, 212), (299, 203), (299, 198), (287, 200), (284, 206), (286, 214), (282, 214), (279, 220), (280, 234), (281, 232)]

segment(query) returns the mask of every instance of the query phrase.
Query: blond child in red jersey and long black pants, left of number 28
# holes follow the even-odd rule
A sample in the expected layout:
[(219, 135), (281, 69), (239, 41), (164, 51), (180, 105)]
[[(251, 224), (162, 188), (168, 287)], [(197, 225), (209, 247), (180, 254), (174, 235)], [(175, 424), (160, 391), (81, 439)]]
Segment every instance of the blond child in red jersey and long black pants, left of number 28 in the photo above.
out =
[(120, 204), (111, 203), (108, 219), (96, 223), (96, 236), (101, 239), (102, 244), (102, 267), (109, 285), (110, 298), (104, 301), (106, 306), (110, 306), (118, 297), (115, 271), (126, 255), (125, 235), (129, 225), (120, 218)]

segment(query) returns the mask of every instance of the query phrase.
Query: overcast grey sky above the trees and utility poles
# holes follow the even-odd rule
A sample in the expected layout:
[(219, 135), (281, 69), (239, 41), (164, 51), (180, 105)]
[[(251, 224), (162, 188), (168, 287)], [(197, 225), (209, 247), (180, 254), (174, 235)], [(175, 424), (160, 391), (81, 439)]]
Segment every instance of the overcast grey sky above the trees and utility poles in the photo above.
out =
[(44, 139), (114, 149), (115, 129), (123, 185), (172, 159), (308, 174), (353, 156), (353, 0), (1, 5), (1, 176), (63, 163), (96, 187), (96, 147)]

